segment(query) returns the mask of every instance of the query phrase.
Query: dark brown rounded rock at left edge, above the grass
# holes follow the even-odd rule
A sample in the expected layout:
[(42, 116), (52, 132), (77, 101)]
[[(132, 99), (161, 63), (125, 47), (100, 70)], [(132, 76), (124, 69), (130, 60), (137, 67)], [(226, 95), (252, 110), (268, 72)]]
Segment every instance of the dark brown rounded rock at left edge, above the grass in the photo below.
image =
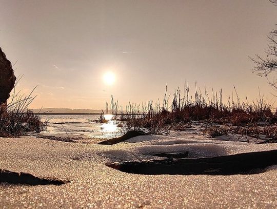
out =
[(12, 65), (7, 60), (5, 53), (0, 48), (0, 106), (1, 109), (6, 106), (6, 102), (10, 97), (10, 92), (14, 88), (15, 76)]

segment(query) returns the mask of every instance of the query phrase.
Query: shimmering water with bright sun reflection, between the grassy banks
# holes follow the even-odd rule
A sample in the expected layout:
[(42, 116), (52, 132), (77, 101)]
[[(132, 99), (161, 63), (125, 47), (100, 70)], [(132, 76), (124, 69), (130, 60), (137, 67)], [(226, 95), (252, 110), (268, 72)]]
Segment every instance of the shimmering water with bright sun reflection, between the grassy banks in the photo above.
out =
[(112, 115), (105, 115), (107, 123), (96, 123), (100, 115), (41, 115), (48, 121), (47, 130), (40, 135), (80, 136), (85, 138), (113, 138), (120, 135), (120, 128)]

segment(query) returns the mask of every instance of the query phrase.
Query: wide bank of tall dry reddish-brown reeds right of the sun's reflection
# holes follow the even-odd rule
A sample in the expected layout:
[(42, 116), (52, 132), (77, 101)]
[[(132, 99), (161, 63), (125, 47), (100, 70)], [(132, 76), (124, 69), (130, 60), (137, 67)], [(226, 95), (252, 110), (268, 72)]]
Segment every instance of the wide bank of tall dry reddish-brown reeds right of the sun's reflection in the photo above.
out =
[[(196, 83), (195, 86), (197, 86)], [(277, 121), (276, 113), (271, 111), (272, 106), (265, 103), (260, 93), (259, 99), (250, 104), (248, 101), (241, 102), (235, 88), (234, 90), (236, 102), (233, 99), (230, 101), (229, 97), (228, 102), (224, 104), (221, 90), (212, 92), (211, 96), (208, 96), (206, 89), (204, 95), (200, 90), (196, 90), (193, 98), (189, 94), (189, 87), (185, 84), (183, 96), (181, 96), (181, 90), (176, 89), (170, 103), (166, 91), (162, 105), (159, 102), (153, 104), (153, 101), (141, 105), (129, 104), (123, 111), (123, 107), (119, 108), (118, 102), (114, 102), (112, 98), (110, 112), (114, 120), (124, 122), (124, 131), (144, 130), (149, 134), (165, 134), (172, 129), (185, 130), (189, 128), (191, 121), (229, 124), (232, 127), (244, 127), (248, 132), (249, 124), (258, 122), (273, 124)], [(251, 131), (254, 135), (255, 132)], [(210, 133), (211, 136), (224, 134), (226, 130), (218, 127)]]

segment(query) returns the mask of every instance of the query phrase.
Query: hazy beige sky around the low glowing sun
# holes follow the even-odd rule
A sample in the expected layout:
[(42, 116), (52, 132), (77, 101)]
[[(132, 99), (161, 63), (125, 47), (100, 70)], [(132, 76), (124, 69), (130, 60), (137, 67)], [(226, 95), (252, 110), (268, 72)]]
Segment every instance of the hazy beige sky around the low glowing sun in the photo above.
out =
[[(249, 56), (263, 55), (277, 24), (268, 0), (0, 0), (0, 47), (30, 108), (104, 109), (161, 100), (197, 81), (223, 99), (233, 86), (249, 101), (274, 101)], [(114, 83), (103, 81), (111, 72)], [(107, 80), (107, 79), (106, 79)], [(109, 81), (109, 79), (108, 79)], [(194, 90), (191, 90), (192, 93)]]

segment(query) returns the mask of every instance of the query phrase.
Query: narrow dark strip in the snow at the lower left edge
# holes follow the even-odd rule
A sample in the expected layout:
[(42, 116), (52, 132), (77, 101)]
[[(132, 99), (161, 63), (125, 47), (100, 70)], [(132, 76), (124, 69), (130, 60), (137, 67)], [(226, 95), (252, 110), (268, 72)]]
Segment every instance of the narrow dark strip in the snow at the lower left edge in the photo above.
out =
[(10, 172), (9, 170), (0, 169), (0, 182), (28, 185), (61, 185), (69, 183), (70, 181), (57, 178), (37, 177), (28, 173), (16, 173)]

